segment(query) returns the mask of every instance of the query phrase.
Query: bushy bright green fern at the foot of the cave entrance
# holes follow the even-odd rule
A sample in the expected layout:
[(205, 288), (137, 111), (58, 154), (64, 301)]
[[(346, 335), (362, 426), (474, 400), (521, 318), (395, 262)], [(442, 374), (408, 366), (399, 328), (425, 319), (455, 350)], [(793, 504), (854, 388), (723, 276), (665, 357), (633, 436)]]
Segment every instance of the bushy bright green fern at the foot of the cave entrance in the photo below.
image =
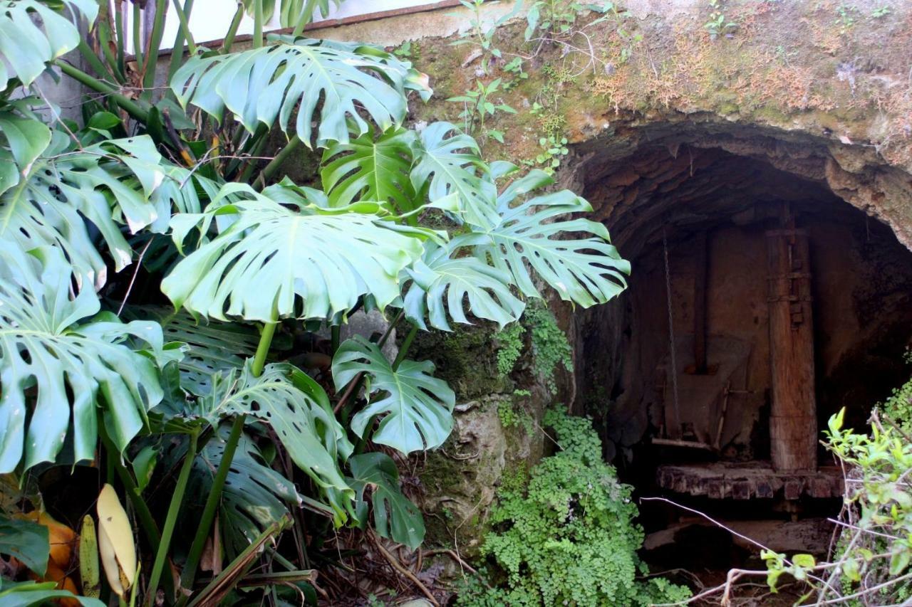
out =
[(590, 421), (551, 411), (545, 423), (562, 449), (504, 483), (492, 509), (494, 530), (482, 545), (503, 583), (488, 588), (474, 580), (457, 604), (622, 606), (687, 598), (686, 588), (667, 580), (637, 580), (647, 572), (637, 557), (637, 507), (602, 459)]

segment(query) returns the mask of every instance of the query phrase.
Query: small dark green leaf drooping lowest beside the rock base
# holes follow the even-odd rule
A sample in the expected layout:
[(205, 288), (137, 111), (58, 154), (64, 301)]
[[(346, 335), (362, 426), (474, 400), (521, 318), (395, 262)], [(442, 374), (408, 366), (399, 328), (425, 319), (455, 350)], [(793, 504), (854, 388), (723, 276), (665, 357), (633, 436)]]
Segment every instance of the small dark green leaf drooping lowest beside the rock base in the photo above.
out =
[(424, 540), (424, 520), (420, 510), (402, 495), (396, 462), (383, 453), (364, 453), (349, 460), (350, 479), (356, 489), (356, 509), (362, 522), (368, 518), (366, 489), (373, 489), (374, 528), (384, 538), (415, 550)]

